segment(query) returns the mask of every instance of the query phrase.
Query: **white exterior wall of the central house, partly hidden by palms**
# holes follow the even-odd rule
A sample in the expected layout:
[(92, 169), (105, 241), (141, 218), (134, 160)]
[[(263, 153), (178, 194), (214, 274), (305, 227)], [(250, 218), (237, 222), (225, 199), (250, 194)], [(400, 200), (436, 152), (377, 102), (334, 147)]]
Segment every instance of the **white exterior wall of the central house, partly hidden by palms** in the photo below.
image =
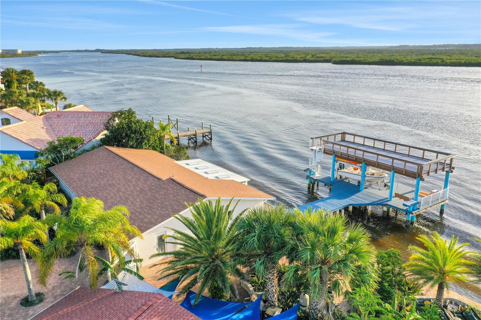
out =
[[(206, 199), (205, 201), (207, 201)], [(215, 202), (216, 199), (211, 199), (213, 202)], [(222, 204), (226, 205), (230, 199), (222, 199)], [(239, 199), (234, 199), (233, 203)], [(237, 205), (235, 211), (234, 211), (234, 217), (239, 215), (242, 210), (248, 209), (248, 208), (253, 208), (256, 206), (262, 206), (264, 205), (264, 202), (266, 200), (262, 199), (241, 199), (239, 204)], [(190, 210), (186, 209), (181, 212), (182, 215), (191, 217)], [(148, 264), (151, 264), (158, 259), (150, 259), (149, 257), (153, 255), (154, 253), (157, 253), (157, 236), (160, 234), (174, 234), (172, 230), (167, 229), (168, 228), (174, 228), (182, 231), (188, 231), (187, 228), (179, 222), (175, 218), (170, 218), (166, 220), (165, 222), (160, 223), (159, 225), (155, 226), (151, 230), (148, 230), (142, 234), (143, 239), (140, 239), (139, 237), (136, 237), (130, 241), (130, 243), (135, 243), (136, 246), (136, 252), (139, 254), (139, 258), (144, 259), (142, 262), (142, 265), (146, 266)], [(171, 241), (171, 238), (167, 238), (166, 241)], [(166, 251), (172, 251), (174, 250), (174, 245), (171, 244), (166, 244)]]

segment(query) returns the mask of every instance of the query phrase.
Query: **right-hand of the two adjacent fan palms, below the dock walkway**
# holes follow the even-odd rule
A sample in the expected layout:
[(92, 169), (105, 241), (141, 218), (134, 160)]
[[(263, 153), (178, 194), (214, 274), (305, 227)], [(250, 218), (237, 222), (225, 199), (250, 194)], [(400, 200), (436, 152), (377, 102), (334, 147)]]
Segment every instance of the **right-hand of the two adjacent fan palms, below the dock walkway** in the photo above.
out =
[[(309, 281), (309, 320), (332, 319), (328, 289), (340, 295), (345, 282), (359, 276), (359, 270), (374, 267), (370, 236), (359, 224), (350, 224), (340, 214), (312, 209), (296, 210), (297, 250), (284, 274), (284, 285), (294, 283), (299, 272)], [(367, 279), (368, 280), (368, 279)]]

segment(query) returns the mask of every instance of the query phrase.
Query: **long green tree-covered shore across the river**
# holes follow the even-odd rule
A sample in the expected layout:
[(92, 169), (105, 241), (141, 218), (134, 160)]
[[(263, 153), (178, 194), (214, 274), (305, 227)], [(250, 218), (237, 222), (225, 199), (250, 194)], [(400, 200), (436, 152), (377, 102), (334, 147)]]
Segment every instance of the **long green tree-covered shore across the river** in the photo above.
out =
[[(445, 45), (457, 46), (457, 45)], [(478, 45), (474, 45), (478, 46)], [(409, 46), (407, 46), (409, 47)], [(478, 46), (479, 47), (479, 46)], [(102, 50), (141, 57), (247, 62), (330, 62), (335, 64), (481, 66), (481, 48), (418, 49), (179, 49)], [(451, 49), (452, 48), (452, 49)]]

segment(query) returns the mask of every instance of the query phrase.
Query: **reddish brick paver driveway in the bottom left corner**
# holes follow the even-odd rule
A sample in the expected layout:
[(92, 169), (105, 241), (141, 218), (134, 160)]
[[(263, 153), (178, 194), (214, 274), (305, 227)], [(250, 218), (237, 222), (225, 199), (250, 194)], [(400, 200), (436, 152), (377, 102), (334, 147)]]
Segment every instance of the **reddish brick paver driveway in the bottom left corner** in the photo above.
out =
[(58, 259), (51, 272), (47, 289), (42, 288), (37, 283), (37, 262), (28, 259), (28, 267), (34, 281), (34, 290), (35, 292), (43, 292), (45, 294), (45, 300), (42, 303), (29, 308), (20, 306), (20, 300), (28, 294), (20, 259), (1, 261), (0, 319), (26, 320), (70, 293), (76, 287), (84, 286), (86, 282), (83, 276), (79, 276), (78, 279), (64, 279), (64, 276), (58, 275), (62, 271), (75, 271), (77, 259), (77, 256)]

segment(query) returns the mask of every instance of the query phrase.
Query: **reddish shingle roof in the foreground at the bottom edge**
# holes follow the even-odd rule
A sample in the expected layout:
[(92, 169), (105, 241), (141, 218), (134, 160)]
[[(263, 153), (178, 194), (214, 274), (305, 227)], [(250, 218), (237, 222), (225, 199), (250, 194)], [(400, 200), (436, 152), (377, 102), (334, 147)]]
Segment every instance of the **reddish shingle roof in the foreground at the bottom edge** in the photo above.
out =
[(200, 320), (159, 293), (78, 288), (33, 320)]

